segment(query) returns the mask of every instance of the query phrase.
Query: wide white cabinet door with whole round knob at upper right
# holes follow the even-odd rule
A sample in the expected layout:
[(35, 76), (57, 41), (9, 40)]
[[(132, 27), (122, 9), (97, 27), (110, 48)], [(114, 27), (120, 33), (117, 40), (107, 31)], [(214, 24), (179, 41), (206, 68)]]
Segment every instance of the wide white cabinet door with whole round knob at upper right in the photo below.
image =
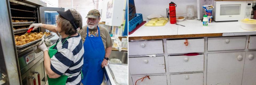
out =
[(241, 85), (245, 52), (207, 54), (207, 85)]

